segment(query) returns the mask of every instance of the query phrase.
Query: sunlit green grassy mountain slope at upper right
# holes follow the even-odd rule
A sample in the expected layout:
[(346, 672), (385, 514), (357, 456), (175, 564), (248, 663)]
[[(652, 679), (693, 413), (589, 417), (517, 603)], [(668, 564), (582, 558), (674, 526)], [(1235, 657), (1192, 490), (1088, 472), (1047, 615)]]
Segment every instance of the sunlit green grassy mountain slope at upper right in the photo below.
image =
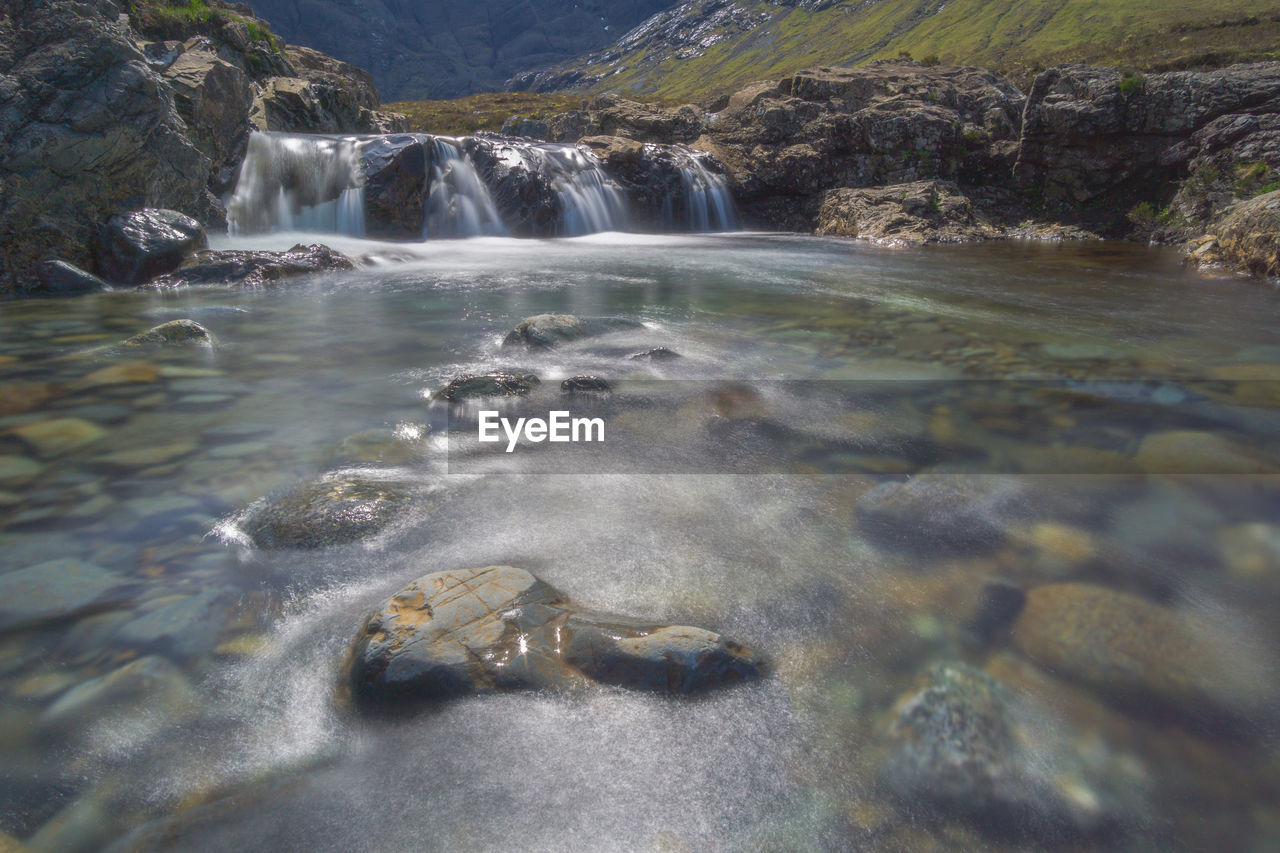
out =
[(909, 53), (1027, 77), (1062, 61), (1167, 69), (1280, 55), (1280, 0), (690, 0), (511, 88), (694, 99)]

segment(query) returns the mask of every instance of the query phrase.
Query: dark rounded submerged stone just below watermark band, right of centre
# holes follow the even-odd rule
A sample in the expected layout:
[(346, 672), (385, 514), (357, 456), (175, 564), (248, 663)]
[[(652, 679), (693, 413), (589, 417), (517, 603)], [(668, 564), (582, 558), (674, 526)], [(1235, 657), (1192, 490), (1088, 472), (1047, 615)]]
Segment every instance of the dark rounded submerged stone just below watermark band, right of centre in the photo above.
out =
[(922, 475), (881, 483), (859, 500), (858, 529), (874, 544), (918, 556), (986, 553), (1005, 540), (1019, 491), (1000, 478)]

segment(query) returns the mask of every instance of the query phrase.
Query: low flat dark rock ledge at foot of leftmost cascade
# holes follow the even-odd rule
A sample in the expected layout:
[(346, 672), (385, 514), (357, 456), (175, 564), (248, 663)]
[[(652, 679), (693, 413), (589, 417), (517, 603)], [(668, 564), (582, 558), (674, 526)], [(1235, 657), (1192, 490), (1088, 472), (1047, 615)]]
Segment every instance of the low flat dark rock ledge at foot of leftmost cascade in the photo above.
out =
[(152, 279), (148, 287), (195, 284), (262, 287), (297, 275), (351, 269), (356, 269), (355, 261), (320, 243), (310, 246), (298, 243), (284, 252), (201, 251), (173, 273)]

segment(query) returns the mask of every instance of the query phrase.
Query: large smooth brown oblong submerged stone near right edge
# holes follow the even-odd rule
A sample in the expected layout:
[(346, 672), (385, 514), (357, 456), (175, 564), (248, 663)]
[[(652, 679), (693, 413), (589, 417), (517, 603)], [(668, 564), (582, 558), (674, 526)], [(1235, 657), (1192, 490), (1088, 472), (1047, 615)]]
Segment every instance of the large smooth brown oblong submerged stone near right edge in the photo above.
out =
[(1014, 646), (1050, 672), (1126, 707), (1180, 719), (1245, 719), (1275, 701), (1270, 654), (1242, 630), (1089, 584), (1027, 594)]

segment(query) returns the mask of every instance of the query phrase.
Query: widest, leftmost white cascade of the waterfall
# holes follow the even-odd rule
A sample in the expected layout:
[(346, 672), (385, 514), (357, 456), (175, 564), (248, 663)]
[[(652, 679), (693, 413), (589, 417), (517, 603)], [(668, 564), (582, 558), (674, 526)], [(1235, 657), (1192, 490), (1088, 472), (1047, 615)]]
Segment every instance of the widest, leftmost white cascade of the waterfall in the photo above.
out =
[(259, 133), (227, 201), (233, 234), (311, 231), (365, 236), (358, 138)]

